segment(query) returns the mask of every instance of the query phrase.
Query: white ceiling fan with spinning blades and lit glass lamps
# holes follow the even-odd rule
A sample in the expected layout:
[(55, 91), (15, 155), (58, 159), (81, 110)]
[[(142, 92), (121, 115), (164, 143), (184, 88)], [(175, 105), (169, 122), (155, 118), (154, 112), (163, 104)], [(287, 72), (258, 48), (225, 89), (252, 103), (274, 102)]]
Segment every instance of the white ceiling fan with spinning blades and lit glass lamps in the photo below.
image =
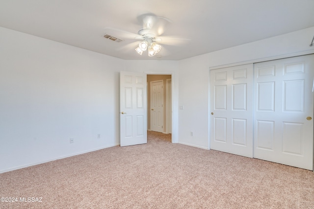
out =
[[(142, 28), (137, 34), (111, 27), (106, 27), (105, 29), (108, 33), (111, 32), (117, 34), (119, 38), (113, 37), (114, 40), (122, 41), (120, 38), (138, 40), (136, 41), (138, 45), (134, 48), (135, 51), (140, 55), (142, 55), (144, 51), (148, 51), (148, 56), (151, 57), (155, 56), (161, 50), (161, 44), (176, 45), (187, 41), (187, 39), (173, 36), (161, 36), (166, 24), (170, 23), (170, 20), (167, 18), (159, 17), (154, 14), (144, 14), (138, 16), (137, 20), (142, 24)], [(108, 36), (108, 34), (105, 34), (105, 36)], [(131, 43), (131, 46), (134, 46), (133, 43)]]

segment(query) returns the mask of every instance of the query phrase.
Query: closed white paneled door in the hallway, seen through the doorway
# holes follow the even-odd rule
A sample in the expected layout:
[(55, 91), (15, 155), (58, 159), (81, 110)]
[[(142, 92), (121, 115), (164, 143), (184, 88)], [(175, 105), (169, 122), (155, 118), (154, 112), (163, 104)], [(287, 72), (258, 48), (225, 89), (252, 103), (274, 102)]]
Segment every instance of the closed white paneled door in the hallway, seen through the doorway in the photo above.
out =
[(151, 82), (151, 130), (163, 132), (163, 80)]

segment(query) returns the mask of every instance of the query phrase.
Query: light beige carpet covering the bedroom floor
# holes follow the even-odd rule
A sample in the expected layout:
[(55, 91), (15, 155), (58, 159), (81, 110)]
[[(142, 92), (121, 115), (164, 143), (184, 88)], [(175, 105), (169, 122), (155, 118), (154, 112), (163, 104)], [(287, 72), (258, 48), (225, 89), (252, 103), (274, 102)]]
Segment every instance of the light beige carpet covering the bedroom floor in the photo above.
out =
[(313, 209), (314, 173), (148, 132), (147, 144), (2, 173), (0, 197), (18, 198), (3, 209)]

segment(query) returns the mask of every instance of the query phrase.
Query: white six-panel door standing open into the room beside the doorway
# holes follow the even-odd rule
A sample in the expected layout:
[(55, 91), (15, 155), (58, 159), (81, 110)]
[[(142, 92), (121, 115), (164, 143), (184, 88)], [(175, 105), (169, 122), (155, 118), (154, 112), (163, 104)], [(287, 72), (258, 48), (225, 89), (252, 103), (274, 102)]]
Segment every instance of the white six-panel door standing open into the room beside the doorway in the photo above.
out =
[(120, 145), (147, 143), (146, 74), (120, 72)]

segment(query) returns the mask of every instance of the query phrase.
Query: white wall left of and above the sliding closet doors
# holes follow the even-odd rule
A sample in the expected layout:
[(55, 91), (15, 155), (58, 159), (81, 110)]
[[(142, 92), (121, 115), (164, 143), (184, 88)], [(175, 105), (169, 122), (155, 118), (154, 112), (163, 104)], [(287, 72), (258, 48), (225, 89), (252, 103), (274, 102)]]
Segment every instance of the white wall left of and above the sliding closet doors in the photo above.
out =
[[(314, 27), (179, 61), (179, 143), (209, 148), (209, 68), (314, 53)], [(190, 132), (194, 136), (190, 136)]]

